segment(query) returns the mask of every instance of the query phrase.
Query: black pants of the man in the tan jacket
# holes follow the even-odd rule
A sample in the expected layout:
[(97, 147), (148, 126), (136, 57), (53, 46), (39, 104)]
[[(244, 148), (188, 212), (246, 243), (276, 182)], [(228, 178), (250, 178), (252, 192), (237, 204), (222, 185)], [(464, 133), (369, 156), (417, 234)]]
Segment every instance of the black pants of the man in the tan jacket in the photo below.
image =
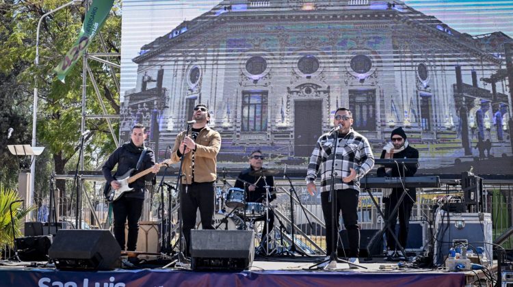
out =
[(183, 218), (183, 236), (185, 237), (185, 256), (190, 256), (191, 230), (196, 227), (196, 210), (200, 208), (201, 226), (204, 230), (213, 228), (215, 210), (215, 183), (193, 182), (182, 184), (180, 191), (180, 210)]

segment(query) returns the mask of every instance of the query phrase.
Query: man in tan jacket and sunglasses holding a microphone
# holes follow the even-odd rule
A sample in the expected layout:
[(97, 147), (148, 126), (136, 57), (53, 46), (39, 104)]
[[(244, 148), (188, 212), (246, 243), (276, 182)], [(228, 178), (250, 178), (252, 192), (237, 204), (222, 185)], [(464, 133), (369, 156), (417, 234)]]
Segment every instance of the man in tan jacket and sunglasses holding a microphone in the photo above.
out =
[(183, 218), (183, 236), (187, 249), (185, 256), (190, 257), (191, 230), (196, 226), (196, 210), (200, 210), (203, 229), (213, 228), (216, 162), (221, 148), (221, 135), (209, 128), (209, 109), (204, 104), (194, 107), (192, 131), (186, 135), (179, 133), (174, 141), (171, 162), (179, 163), (182, 154), (182, 188), (180, 191), (180, 209)]

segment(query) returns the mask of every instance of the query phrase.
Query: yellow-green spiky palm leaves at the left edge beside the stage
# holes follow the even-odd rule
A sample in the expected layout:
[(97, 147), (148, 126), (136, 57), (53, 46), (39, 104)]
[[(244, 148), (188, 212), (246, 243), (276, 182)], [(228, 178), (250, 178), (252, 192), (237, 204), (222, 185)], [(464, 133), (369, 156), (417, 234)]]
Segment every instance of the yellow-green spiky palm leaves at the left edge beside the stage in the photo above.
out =
[[(20, 197), (18, 192), (12, 189), (5, 189), (3, 184), (0, 184), (0, 246), (9, 245), (12, 247), (12, 223), (10, 204)], [(31, 211), (34, 206), (23, 208), (23, 202), (16, 202), (12, 204), (12, 217), (14, 218), (14, 236), (21, 237), (21, 223), (23, 218)]]

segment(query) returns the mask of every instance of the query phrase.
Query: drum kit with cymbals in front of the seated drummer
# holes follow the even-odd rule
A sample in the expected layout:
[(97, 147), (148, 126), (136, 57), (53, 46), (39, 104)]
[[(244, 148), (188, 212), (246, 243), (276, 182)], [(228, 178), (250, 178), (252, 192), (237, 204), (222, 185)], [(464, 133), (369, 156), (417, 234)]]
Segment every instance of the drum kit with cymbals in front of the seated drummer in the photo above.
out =
[[(259, 169), (250, 172), (250, 176), (258, 177), (258, 180), (254, 183), (247, 182), (241, 178), (237, 178), (245, 185), (256, 186), (260, 180), (264, 180), (266, 176), (275, 176), (278, 171), (275, 169)], [(214, 215), (214, 228), (217, 230), (248, 230), (255, 227), (255, 219), (265, 216), (265, 219), (269, 220), (269, 208), (272, 208), (269, 204), (270, 195), (274, 195), (277, 192), (271, 191), (272, 187), (269, 187), (267, 182), (264, 184), (267, 196), (263, 202), (246, 202), (246, 191), (237, 187), (231, 187), (231, 185), (223, 180), (224, 188), (218, 187), (215, 195), (215, 215)], [(226, 189), (226, 187), (228, 187)], [(226, 191), (225, 191), (226, 189)], [(198, 226), (198, 228), (201, 228)], [(267, 227), (268, 228), (268, 227)], [(269, 235), (269, 230), (266, 230), (266, 243), (273, 243), (274, 238)], [(258, 234), (258, 232), (256, 232)], [(272, 249), (269, 249), (269, 245), (260, 246), (257, 252), (265, 256), (272, 254)]]

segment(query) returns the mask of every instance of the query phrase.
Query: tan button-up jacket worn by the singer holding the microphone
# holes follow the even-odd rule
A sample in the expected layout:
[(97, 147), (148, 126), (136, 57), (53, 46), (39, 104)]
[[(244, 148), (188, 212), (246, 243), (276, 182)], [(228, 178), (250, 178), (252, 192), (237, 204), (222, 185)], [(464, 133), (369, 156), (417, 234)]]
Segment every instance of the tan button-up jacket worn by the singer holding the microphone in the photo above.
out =
[[(179, 133), (174, 140), (174, 147), (171, 153), (171, 162), (180, 163), (180, 157), (176, 151), (183, 141), (185, 131)], [(194, 151), (194, 182), (213, 182), (216, 178), (216, 157), (221, 148), (221, 135), (205, 126), (196, 138), (196, 151)], [(183, 184), (192, 183), (192, 151), (185, 154), (183, 158), (182, 178)]]

